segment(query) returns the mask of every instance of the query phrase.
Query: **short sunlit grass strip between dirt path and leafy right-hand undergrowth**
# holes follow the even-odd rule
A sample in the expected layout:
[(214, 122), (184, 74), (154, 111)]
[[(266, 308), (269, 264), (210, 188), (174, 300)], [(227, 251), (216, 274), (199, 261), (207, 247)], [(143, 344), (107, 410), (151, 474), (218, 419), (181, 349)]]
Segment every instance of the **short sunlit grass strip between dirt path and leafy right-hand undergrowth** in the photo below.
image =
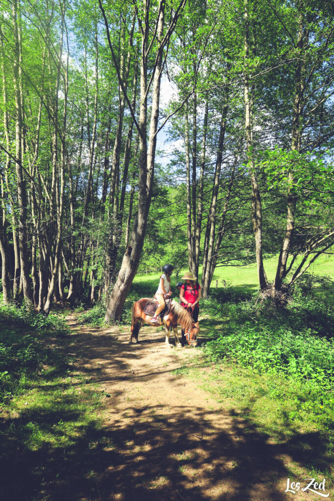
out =
[[(192, 375), (190, 374), (190, 377)], [(333, 485), (334, 415), (317, 404), (304, 408), (308, 395), (301, 381), (257, 374), (237, 364), (218, 363), (204, 387), (243, 422), (242, 435), (256, 433), (292, 458), (291, 476), (314, 475)], [(330, 402), (331, 403), (331, 402)], [(296, 470), (296, 471), (293, 471)]]

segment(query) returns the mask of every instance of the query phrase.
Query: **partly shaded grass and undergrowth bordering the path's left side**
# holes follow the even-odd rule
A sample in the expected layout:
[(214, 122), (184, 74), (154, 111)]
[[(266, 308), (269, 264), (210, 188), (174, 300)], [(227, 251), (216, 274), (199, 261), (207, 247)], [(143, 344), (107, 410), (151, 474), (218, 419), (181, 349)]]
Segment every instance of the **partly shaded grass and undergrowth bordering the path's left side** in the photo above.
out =
[(65, 320), (0, 306), (0, 325), (0, 497), (74, 499), (84, 483), (92, 492), (88, 473), (111, 444)]

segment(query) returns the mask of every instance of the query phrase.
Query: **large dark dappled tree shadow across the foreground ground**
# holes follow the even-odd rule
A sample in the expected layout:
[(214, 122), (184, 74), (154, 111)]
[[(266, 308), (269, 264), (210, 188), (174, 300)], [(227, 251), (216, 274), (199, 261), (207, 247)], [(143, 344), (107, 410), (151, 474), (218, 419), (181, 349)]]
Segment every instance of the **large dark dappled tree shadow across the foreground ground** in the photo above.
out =
[[(315, 458), (319, 467), (325, 463), (316, 433), (296, 433), (284, 444), (269, 444), (250, 423), (245, 428), (244, 422), (235, 422), (231, 435), (213, 426), (207, 409), (193, 409), (192, 420), (185, 410), (175, 406), (171, 413), (143, 405), (124, 415), (115, 407), (112, 427), (99, 429), (92, 420), (66, 448), (34, 451), (8, 439), (3, 443), (2, 499), (283, 500), (286, 494), (283, 487), (277, 489), (277, 480), (284, 485), (290, 473), (282, 453), (301, 463)], [(50, 428), (55, 419), (46, 414), (29, 417), (43, 419)], [(68, 413), (57, 419), (73, 417)]]

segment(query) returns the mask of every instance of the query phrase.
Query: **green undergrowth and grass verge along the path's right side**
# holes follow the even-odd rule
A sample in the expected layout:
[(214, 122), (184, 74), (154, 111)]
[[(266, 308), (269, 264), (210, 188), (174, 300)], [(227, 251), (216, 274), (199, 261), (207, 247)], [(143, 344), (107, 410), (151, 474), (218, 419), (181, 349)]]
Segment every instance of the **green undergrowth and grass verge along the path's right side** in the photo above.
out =
[[(326, 270), (328, 272), (328, 270)], [(247, 290), (202, 302), (205, 387), (251, 431), (284, 443), (308, 475), (334, 480), (334, 308), (297, 286), (285, 309)], [(201, 336), (203, 329), (201, 330)], [(187, 374), (187, 372), (186, 372)], [(187, 374), (192, 377), (191, 371)], [(297, 467), (297, 466), (296, 466)], [(304, 472), (305, 473), (305, 472)]]

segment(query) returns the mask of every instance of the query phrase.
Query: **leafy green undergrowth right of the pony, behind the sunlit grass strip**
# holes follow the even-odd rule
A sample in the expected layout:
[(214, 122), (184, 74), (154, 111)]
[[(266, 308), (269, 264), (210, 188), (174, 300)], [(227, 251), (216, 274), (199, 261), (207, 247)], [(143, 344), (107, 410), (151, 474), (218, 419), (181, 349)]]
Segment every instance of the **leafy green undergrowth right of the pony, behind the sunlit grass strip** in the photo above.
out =
[[(226, 321), (224, 333), (206, 344), (213, 361), (227, 360), (259, 374), (298, 381), (306, 392), (304, 407), (331, 406), (334, 388), (334, 309), (297, 294), (282, 311), (254, 300), (214, 306), (205, 313)], [(305, 396), (305, 395), (304, 395)]]

